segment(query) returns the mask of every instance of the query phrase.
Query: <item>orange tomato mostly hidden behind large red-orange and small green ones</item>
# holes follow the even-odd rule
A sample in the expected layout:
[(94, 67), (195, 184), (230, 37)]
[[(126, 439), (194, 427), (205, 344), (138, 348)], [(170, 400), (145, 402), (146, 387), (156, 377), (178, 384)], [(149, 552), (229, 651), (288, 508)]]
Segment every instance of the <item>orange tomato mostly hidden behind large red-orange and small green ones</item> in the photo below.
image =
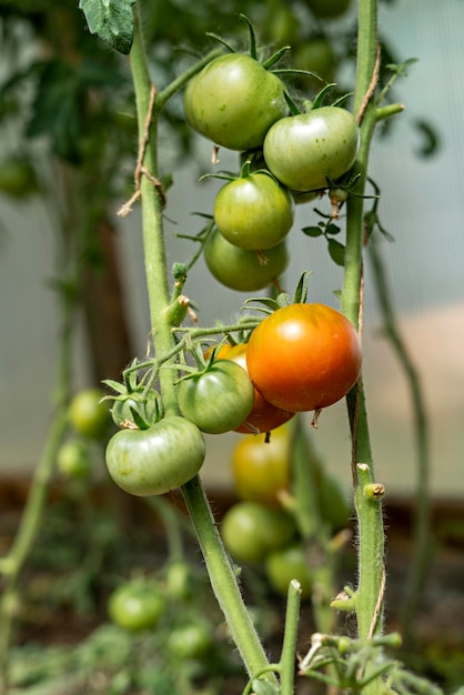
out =
[[(224, 350), (225, 348), (225, 350)], [(246, 350), (248, 343), (240, 343), (239, 345), (224, 345), (220, 349), (216, 359), (218, 360), (231, 360), (236, 362), (244, 370), (246, 367)], [(275, 427), (280, 427), (285, 422), (289, 422), (293, 417), (294, 413), (288, 410), (275, 407), (269, 403), (264, 396), (255, 389), (254, 390), (254, 404), (250, 415), (246, 420), (235, 429), (235, 432), (243, 434), (258, 434), (260, 432), (271, 432)]]

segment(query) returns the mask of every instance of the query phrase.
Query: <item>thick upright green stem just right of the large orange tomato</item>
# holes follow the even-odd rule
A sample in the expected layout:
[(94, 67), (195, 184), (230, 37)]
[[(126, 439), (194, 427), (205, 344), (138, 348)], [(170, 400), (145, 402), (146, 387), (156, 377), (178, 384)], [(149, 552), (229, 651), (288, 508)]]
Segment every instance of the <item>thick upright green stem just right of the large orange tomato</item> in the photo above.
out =
[[(359, 329), (362, 326), (364, 195), (370, 147), (376, 115), (373, 102), (375, 61), (377, 53), (376, 0), (359, 1), (356, 87), (354, 112), (361, 118), (360, 151), (354, 171), (359, 174), (356, 195), (347, 200), (345, 272), (342, 312)], [(380, 500), (365, 496), (366, 479), (374, 480), (367, 412), (362, 379), (349, 394), (347, 410), (352, 432), (352, 471), (355, 485), (355, 508), (359, 528), (359, 584), (355, 612), (361, 638), (372, 637), (382, 629), (384, 588), (384, 532)], [(360, 465), (361, 464), (361, 465)], [(367, 666), (369, 671), (374, 664)], [(382, 679), (374, 678), (363, 689), (364, 695), (380, 693)]]

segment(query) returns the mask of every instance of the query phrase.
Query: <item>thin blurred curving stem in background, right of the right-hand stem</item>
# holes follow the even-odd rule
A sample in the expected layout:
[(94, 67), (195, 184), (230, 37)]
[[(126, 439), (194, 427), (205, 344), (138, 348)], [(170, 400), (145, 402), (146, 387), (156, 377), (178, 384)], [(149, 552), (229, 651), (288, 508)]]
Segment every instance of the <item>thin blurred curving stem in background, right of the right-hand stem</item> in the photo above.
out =
[(416, 442), (416, 485), (413, 560), (410, 577), (401, 611), (402, 633), (405, 639), (411, 638), (413, 618), (421, 601), (427, 567), (431, 560), (431, 495), (430, 495), (430, 443), (428, 422), (421, 387), (421, 380), (406, 345), (397, 328), (395, 312), (391, 301), (389, 283), (375, 239), (369, 244), (370, 260), (373, 266), (374, 284), (377, 301), (384, 321), (384, 333), (406, 375), (414, 413), (414, 431)]

